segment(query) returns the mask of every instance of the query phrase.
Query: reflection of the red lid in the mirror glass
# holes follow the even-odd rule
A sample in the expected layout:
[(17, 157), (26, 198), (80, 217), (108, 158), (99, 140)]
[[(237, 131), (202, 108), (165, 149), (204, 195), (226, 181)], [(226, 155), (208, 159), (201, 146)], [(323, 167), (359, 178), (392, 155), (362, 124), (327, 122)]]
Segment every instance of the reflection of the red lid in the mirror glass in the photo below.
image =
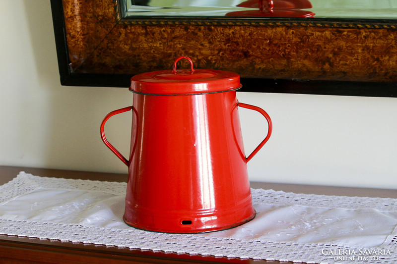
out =
[(258, 8), (258, 10), (230, 12), (226, 16), (314, 17), (315, 15), (311, 11), (301, 10), (313, 7), (309, 0), (247, 0), (237, 6)]

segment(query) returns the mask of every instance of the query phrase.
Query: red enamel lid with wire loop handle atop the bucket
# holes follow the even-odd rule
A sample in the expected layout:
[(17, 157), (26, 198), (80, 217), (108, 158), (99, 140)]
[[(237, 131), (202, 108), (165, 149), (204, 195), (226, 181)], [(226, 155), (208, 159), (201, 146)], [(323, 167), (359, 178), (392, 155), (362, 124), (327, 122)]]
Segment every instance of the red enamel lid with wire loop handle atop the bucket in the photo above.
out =
[[(181, 59), (190, 62), (190, 69), (177, 70)], [(172, 70), (141, 73), (131, 78), (130, 91), (145, 95), (194, 95), (219, 93), (241, 88), (240, 75), (230, 71), (194, 69), (189, 57), (174, 61)]]

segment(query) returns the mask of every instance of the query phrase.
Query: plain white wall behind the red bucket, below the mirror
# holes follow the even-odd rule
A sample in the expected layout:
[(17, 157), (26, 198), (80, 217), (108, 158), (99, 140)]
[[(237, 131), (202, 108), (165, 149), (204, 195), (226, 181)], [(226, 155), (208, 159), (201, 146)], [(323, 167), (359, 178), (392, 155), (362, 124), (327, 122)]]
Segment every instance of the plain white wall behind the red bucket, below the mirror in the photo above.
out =
[[(60, 85), (49, 1), (3, 0), (0, 25), (0, 164), (127, 172), (102, 143), (99, 126), (108, 112), (129, 106), (132, 94)], [(238, 98), (263, 107), (274, 126), (248, 163), (251, 180), (397, 188), (397, 99)], [(240, 111), (248, 153), (262, 140), (265, 120)], [(130, 127), (127, 113), (106, 126), (107, 137), (125, 155)]]

